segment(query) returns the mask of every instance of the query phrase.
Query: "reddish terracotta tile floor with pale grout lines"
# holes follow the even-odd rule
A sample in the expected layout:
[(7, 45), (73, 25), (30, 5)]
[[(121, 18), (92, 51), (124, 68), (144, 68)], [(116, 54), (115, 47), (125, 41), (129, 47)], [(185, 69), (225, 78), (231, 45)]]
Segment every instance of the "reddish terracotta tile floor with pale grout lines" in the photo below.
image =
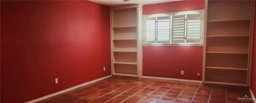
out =
[[(243, 103), (248, 89), (202, 83), (113, 76), (38, 103)], [(244, 102), (253, 103), (253, 102)]]

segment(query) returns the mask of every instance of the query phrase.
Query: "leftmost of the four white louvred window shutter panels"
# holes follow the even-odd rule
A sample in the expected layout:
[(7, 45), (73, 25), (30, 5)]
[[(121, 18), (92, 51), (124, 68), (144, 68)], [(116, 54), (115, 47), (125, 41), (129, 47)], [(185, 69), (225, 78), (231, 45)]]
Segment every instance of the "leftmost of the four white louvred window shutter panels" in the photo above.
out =
[(146, 41), (155, 41), (156, 38), (156, 18), (146, 19)]

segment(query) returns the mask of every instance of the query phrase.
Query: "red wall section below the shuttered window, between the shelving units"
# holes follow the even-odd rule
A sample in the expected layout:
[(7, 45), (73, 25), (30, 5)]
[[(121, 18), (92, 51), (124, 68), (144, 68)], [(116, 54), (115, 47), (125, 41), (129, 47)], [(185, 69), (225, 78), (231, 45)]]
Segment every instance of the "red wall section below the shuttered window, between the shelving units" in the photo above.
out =
[(202, 80), (202, 53), (202, 46), (144, 46), (143, 75)]

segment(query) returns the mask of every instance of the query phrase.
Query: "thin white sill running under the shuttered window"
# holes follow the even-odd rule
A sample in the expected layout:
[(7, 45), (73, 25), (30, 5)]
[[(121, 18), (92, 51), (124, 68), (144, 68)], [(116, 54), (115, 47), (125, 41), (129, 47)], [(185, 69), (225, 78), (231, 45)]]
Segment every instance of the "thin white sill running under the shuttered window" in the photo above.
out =
[(204, 44), (142, 44), (142, 46), (204, 46)]

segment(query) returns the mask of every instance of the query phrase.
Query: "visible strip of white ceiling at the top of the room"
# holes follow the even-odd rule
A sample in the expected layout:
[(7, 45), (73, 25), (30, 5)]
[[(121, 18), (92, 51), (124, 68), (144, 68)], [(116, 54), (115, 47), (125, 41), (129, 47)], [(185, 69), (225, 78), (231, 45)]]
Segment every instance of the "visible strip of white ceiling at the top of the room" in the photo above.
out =
[[(162, 2), (173, 2), (180, 0), (89, 0), (105, 6), (120, 6), (125, 4), (154, 4)], [(124, 2), (126, 1), (126, 2)]]

